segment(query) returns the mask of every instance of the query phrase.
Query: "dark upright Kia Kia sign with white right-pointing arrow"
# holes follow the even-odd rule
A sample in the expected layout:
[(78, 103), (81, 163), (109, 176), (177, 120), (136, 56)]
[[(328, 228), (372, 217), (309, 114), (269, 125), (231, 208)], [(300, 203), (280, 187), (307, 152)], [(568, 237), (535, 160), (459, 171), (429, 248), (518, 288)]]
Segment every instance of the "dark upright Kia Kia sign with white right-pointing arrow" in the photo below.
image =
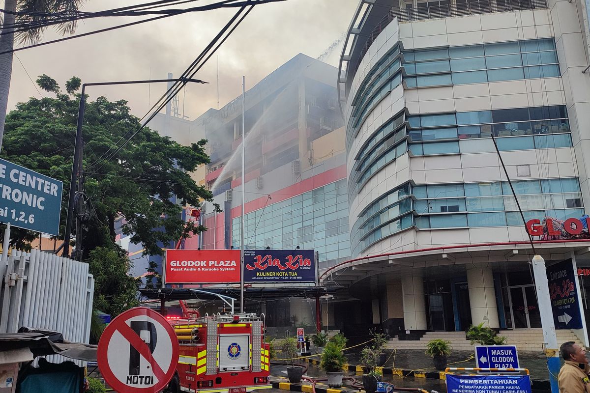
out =
[(572, 260), (549, 266), (547, 278), (555, 329), (582, 329), (581, 304)]

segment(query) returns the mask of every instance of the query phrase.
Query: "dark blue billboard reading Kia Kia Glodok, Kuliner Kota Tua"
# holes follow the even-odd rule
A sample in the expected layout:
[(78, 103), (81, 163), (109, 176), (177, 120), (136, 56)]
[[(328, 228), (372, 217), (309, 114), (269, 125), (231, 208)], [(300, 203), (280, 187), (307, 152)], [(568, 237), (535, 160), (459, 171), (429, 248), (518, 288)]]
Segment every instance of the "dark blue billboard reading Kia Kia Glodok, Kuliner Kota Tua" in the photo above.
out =
[(315, 283), (313, 250), (244, 250), (244, 282)]

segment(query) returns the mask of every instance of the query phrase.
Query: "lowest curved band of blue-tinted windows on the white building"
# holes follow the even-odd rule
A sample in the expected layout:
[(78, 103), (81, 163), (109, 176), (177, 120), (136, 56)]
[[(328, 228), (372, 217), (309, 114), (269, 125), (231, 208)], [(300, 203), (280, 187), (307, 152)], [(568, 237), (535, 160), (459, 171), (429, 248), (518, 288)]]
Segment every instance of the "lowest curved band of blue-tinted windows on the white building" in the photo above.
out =
[[(582, 217), (579, 180), (519, 180), (512, 182), (526, 220)], [(522, 226), (522, 217), (507, 181), (417, 185), (406, 183), (372, 202), (352, 226), (352, 255), (409, 227)]]

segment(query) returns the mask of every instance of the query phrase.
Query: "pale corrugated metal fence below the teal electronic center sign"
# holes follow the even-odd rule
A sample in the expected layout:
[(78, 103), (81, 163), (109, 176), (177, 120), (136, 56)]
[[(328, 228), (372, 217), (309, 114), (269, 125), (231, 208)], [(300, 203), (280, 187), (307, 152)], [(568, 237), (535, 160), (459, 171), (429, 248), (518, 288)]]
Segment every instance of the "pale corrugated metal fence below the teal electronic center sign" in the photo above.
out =
[(28, 326), (60, 332), (67, 341), (89, 342), (94, 278), (87, 263), (40, 250), (15, 251), (0, 262), (0, 277), (0, 333)]

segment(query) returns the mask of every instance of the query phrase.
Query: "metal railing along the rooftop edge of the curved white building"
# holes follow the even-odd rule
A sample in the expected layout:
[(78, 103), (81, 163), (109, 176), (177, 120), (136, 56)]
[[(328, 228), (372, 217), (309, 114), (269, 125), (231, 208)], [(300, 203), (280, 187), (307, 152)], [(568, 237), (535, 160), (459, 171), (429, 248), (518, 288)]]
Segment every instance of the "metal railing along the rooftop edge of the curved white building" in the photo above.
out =
[(419, 21), (431, 18), (448, 18), (450, 16), (464, 16), (474, 14), (490, 14), (493, 12), (521, 11), (524, 9), (547, 8), (546, 0), (458, 0), (455, 4), (429, 5), (431, 3), (419, 3), (418, 8), (390, 9), (375, 26), (362, 49), (362, 58), (371, 47), (371, 44), (379, 34), (395, 18), (398, 22)]

